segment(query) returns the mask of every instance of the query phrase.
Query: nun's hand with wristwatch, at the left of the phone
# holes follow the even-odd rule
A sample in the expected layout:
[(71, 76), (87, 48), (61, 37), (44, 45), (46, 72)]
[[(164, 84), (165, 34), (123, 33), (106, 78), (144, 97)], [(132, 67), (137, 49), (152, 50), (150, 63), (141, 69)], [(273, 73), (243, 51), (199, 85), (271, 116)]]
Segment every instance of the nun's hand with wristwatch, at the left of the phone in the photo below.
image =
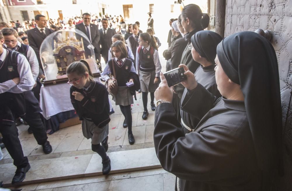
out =
[(160, 72), (161, 82), (154, 92), (155, 99), (172, 102), (173, 87), (168, 87), (167, 81), (162, 72)]

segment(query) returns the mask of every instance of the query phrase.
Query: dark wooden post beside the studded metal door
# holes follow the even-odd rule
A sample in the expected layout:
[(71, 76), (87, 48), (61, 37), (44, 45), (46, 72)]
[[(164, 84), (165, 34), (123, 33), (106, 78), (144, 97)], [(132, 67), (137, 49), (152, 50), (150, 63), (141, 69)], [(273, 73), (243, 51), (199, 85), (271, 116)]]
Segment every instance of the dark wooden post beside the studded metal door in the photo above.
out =
[(226, 0), (216, 0), (215, 32), (224, 37)]

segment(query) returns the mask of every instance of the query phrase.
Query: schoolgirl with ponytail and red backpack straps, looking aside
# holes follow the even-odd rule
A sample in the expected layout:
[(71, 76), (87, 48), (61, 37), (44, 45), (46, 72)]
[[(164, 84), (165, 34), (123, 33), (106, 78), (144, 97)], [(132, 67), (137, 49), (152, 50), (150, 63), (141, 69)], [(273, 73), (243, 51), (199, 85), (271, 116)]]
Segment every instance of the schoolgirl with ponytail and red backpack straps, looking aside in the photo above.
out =
[(155, 111), (154, 92), (159, 86), (161, 64), (157, 51), (156, 41), (149, 33), (139, 36), (140, 47), (136, 51), (136, 68), (139, 75), (144, 112), (142, 119), (147, 119), (147, 97), (150, 92), (151, 110)]

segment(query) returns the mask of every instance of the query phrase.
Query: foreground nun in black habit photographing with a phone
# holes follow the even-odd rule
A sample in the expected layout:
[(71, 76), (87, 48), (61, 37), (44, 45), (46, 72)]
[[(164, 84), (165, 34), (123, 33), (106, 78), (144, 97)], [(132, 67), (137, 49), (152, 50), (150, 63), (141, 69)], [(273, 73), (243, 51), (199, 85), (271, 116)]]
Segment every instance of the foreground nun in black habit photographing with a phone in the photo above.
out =
[[(217, 46), (215, 77), (221, 98), (197, 83), (184, 65), (185, 108), (200, 119), (184, 134), (164, 75), (155, 92), (154, 146), (161, 166), (178, 177), (178, 190), (266, 191), (281, 169), (281, 98), (274, 48), (254, 32)], [(282, 170), (282, 169), (281, 169)]]

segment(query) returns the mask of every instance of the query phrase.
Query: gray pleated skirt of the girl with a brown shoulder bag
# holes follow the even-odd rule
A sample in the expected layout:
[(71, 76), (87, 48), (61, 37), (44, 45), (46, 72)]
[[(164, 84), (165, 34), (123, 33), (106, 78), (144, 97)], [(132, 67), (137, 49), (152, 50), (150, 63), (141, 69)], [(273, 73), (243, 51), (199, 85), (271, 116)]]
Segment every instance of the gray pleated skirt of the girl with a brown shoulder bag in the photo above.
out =
[(118, 94), (112, 98), (116, 105), (127, 106), (134, 103), (133, 95), (131, 95), (130, 88), (127, 86), (118, 87)]

